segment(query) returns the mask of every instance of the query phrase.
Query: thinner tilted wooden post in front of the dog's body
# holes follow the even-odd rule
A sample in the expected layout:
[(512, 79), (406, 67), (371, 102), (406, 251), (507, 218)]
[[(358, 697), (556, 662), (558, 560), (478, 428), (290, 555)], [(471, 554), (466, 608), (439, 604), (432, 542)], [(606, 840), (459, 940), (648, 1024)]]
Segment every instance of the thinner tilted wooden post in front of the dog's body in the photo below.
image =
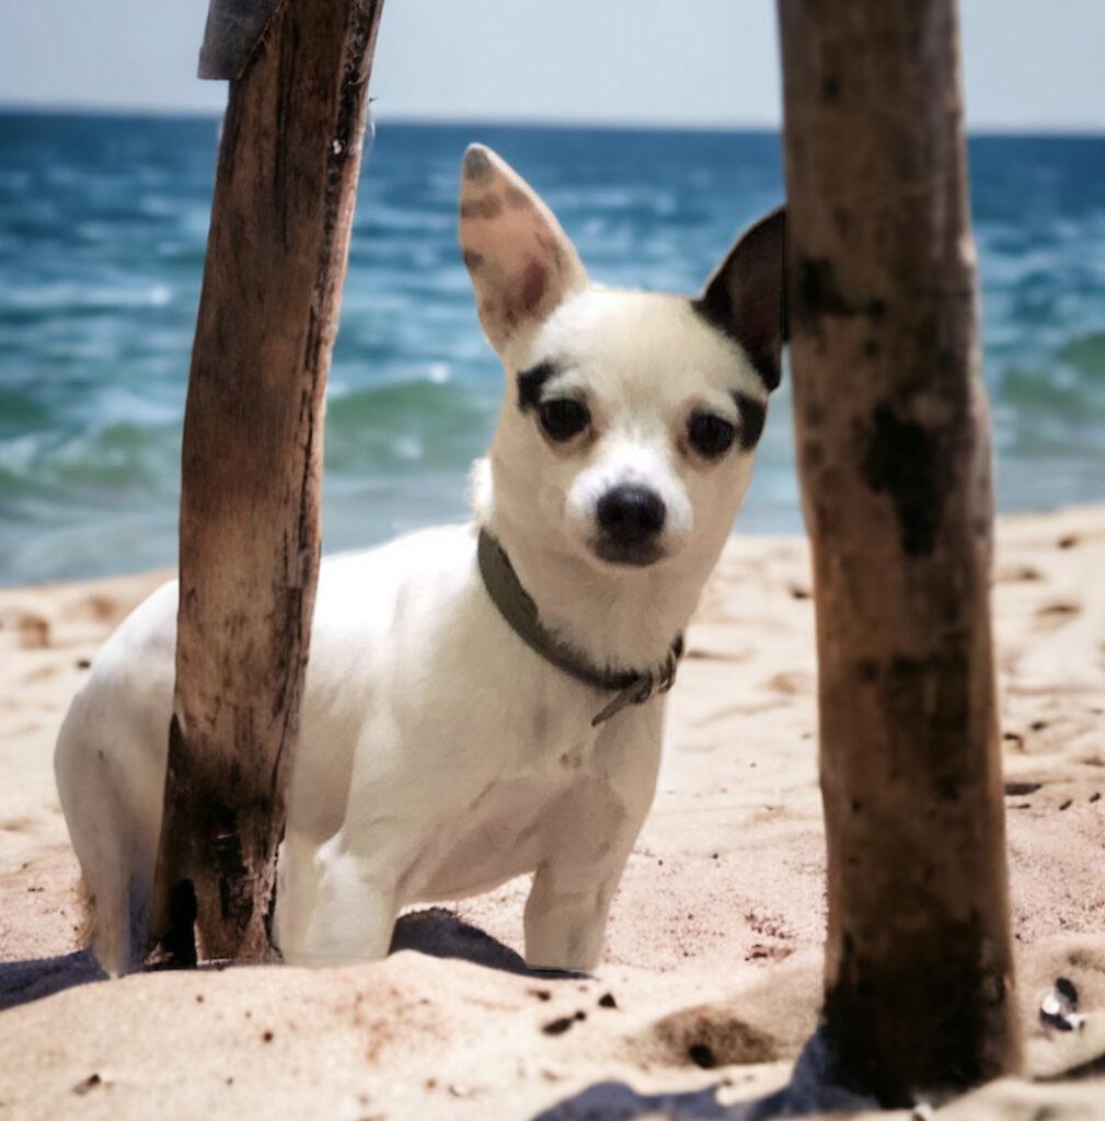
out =
[(150, 932), (182, 963), (197, 949), (271, 955), (319, 569), (323, 393), (381, 8), (285, 0), (230, 86), (184, 419), (176, 694)]

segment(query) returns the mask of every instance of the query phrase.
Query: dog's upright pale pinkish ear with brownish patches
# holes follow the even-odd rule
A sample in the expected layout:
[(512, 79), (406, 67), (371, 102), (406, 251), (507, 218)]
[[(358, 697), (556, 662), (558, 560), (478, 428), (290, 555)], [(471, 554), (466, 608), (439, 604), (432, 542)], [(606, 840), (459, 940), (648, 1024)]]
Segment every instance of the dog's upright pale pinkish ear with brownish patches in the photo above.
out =
[(490, 148), (464, 152), (460, 245), (496, 351), (587, 285), (575, 247), (533, 188)]

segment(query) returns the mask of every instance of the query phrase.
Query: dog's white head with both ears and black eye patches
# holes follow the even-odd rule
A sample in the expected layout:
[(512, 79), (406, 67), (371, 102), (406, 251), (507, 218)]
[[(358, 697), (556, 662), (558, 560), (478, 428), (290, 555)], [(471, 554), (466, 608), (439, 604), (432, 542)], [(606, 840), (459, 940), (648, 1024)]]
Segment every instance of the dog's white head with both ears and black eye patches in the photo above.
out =
[(779, 385), (784, 237), (780, 210), (698, 297), (602, 288), (533, 189), (469, 148), (461, 249), (507, 374), (497, 516), (601, 568), (712, 563)]

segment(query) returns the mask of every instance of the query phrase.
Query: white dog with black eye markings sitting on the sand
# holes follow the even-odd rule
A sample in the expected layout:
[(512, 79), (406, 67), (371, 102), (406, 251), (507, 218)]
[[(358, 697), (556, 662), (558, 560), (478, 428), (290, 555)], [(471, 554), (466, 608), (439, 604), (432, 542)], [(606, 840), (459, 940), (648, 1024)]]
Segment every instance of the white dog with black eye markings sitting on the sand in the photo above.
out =
[[(590, 970), (652, 802), (681, 631), (779, 381), (784, 216), (697, 299), (591, 285), (534, 192), (464, 156), (460, 238), (506, 397), (475, 521), (322, 566), (278, 865), (289, 962), (388, 951), (400, 908), (533, 873), (531, 966)], [(145, 947), (176, 584), (104, 643), (57, 785), (111, 973)]]

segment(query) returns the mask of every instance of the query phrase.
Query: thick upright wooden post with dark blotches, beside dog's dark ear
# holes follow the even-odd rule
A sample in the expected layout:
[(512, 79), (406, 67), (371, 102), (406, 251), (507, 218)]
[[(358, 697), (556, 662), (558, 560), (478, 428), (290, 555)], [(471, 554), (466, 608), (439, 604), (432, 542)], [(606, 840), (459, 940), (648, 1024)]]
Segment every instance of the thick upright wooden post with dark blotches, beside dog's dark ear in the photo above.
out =
[(993, 500), (954, 0), (780, 0), (837, 1077), (903, 1105), (1019, 1062)]

